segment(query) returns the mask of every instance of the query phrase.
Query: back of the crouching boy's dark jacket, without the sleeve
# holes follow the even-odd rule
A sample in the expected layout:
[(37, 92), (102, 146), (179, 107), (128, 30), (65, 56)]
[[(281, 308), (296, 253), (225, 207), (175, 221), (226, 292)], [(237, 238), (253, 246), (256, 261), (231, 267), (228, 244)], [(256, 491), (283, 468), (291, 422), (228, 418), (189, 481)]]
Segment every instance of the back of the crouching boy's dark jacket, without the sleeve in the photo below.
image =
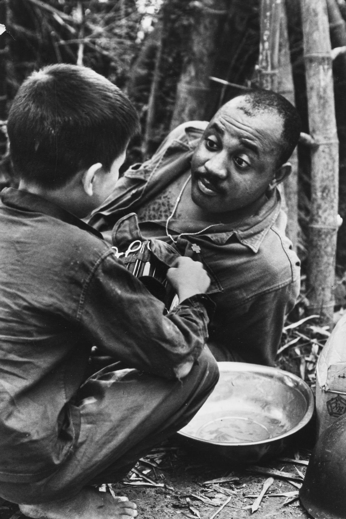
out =
[(55, 470), (73, 444), (77, 424), (64, 421), (62, 409), (83, 381), (92, 346), (81, 297), (94, 265), (111, 252), (78, 218), (35, 195), (5, 189), (2, 199), (0, 470), (10, 449), (20, 481), (27, 466)]

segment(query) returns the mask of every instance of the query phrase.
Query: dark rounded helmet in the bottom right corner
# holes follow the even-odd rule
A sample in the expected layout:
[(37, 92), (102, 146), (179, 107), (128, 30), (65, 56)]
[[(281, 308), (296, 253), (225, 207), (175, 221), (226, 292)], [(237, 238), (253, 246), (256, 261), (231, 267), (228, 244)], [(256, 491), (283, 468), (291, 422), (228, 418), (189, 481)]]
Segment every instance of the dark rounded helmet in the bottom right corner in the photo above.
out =
[(318, 439), (299, 497), (315, 519), (346, 519), (346, 415)]

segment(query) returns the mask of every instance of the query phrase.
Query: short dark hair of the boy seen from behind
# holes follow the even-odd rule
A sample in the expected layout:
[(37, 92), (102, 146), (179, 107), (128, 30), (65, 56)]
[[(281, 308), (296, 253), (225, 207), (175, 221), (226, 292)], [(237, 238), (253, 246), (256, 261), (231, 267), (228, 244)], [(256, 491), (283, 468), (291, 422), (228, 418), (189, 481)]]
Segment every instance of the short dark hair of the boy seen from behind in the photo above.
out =
[(16, 175), (55, 189), (96, 162), (108, 171), (139, 132), (139, 121), (108, 79), (86, 67), (57, 64), (24, 81), (7, 128)]

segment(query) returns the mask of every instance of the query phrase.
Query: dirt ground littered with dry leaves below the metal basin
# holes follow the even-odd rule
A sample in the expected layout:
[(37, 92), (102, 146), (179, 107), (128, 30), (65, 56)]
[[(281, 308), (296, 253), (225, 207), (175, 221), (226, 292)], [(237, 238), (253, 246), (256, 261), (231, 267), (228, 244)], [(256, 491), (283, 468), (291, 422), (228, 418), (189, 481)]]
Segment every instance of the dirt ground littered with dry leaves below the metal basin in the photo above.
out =
[[(297, 499), (297, 486), (300, 485), (299, 472), (304, 475), (313, 446), (313, 431), (314, 426), (308, 425), (303, 433), (293, 438), (280, 458), (257, 464), (266, 470), (290, 472), (296, 481), (290, 483), (283, 477), (274, 477), (266, 497), (253, 514), (249, 507), (270, 476), (250, 472), (251, 466), (234, 466), (218, 456), (192, 450), (182, 445), (177, 436), (142, 458), (122, 482), (105, 485), (103, 489), (106, 487), (106, 491), (110, 491), (111, 487), (115, 495), (125, 495), (135, 501), (139, 519), (212, 519), (215, 513), (216, 519), (250, 516), (255, 519), (307, 519), (310, 516)], [(220, 478), (225, 481), (205, 483)], [(294, 495), (269, 497), (287, 492)], [(228, 498), (228, 504), (219, 511)], [(295, 500), (284, 504), (292, 498)], [(20, 519), (24, 515), (16, 505), (0, 500), (0, 518)]]

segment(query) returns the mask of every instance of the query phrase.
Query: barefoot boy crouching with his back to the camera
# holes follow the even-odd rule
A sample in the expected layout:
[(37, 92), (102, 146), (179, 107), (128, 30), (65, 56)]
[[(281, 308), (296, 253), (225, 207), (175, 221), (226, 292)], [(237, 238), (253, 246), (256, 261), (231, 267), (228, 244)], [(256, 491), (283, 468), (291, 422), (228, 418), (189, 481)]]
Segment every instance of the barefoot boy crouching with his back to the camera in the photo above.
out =
[[(121, 479), (218, 378), (201, 264), (168, 270), (180, 304), (164, 317), (80, 220), (111, 192), (137, 131), (126, 96), (74, 65), (33, 73), (11, 106), (19, 189), (0, 206), (0, 496), (28, 517), (136, 517), (135, 503), (90, 485)], [(113, 363), (86, 379), (92, 345)]]

